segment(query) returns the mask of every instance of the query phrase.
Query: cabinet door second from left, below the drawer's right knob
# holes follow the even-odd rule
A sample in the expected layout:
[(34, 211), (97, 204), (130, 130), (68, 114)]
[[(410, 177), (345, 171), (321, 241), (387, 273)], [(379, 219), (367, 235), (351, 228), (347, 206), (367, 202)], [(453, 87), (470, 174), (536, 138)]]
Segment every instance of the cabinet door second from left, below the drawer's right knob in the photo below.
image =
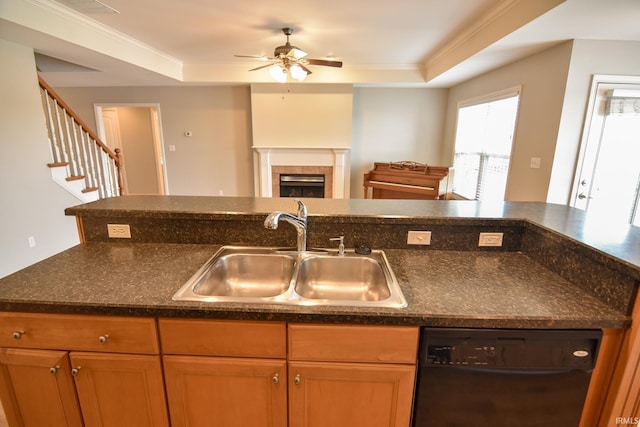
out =
[(158, 356), (72, 352), (82, 416), (92, 426), (168, 426)]

